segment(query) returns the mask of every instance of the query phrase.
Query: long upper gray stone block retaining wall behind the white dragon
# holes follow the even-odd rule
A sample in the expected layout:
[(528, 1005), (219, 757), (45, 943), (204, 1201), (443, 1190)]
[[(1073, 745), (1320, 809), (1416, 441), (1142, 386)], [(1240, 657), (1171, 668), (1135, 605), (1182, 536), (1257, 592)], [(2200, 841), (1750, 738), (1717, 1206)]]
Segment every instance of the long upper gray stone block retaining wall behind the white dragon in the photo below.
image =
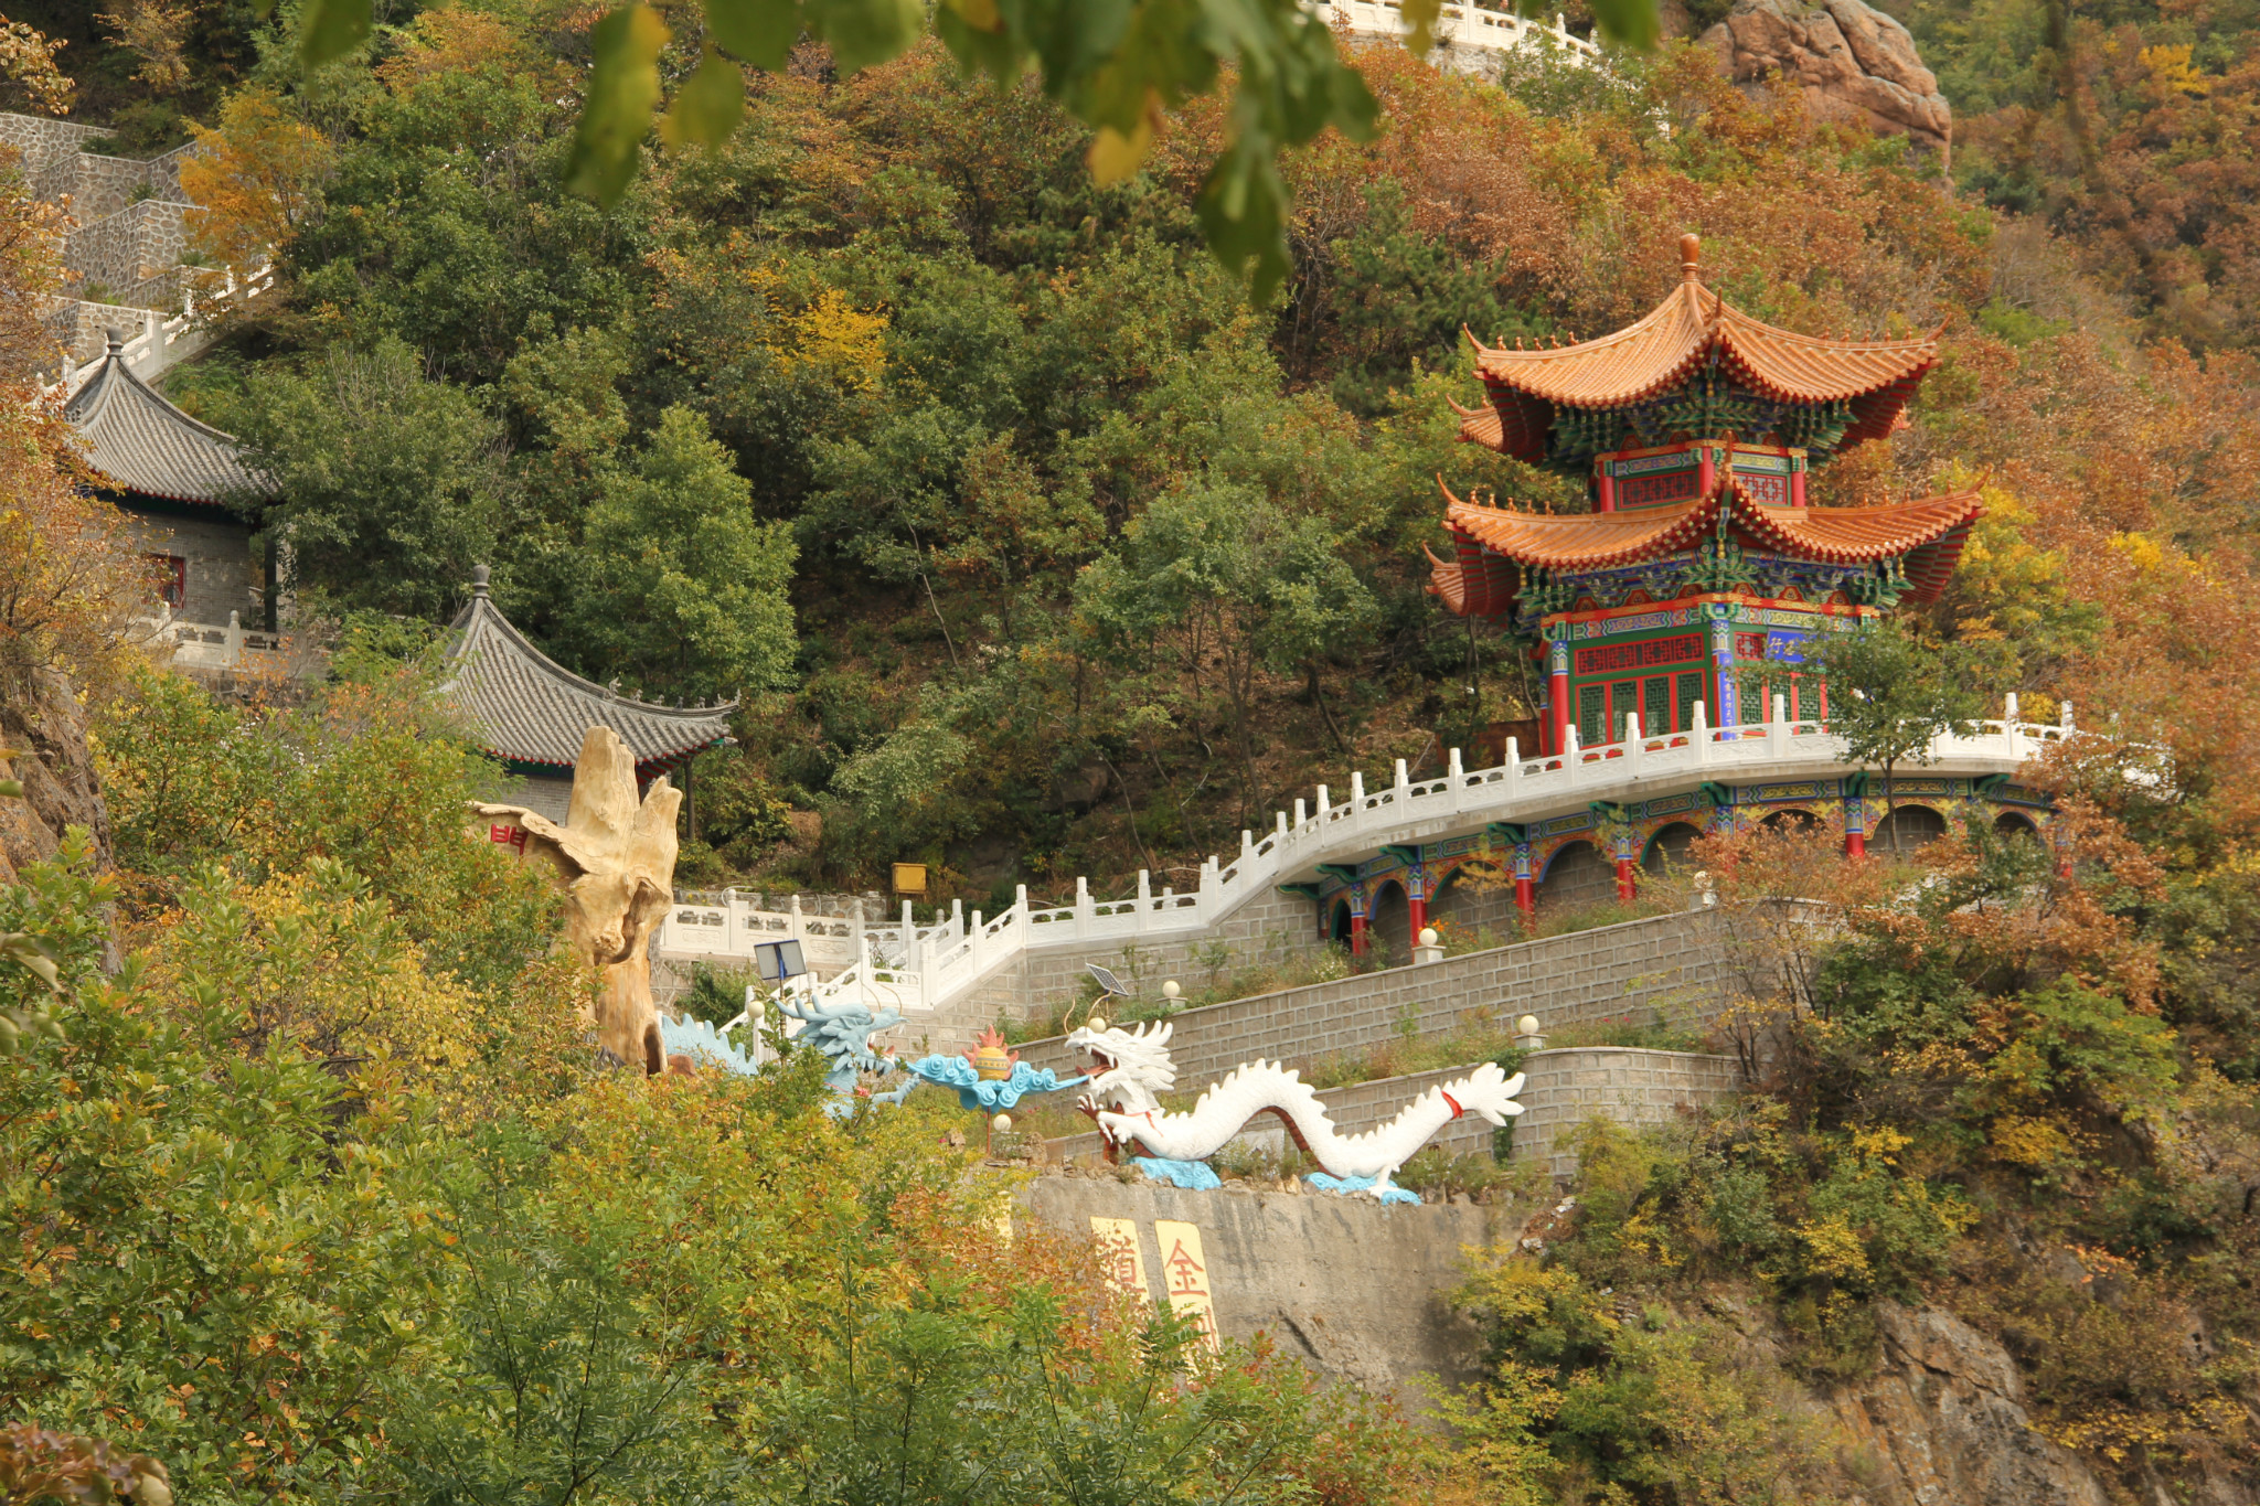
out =
[[(1171, 1057), (1177, 1088), (1200, 1091), (1241, 1061), (1309, 1068), (1406, 1036), (1442, 1036), (1469, 1018), (1537, 1014), (1546, 1030), (1559, 1030), (1670, 1012), (1709, 1023), (1724, 975), (1724, 944), (1711, 914), (1659, 914), (1182, 1009), (1173, 1016)], [(1062, 1036), (1031, 1041), (1019, 1054), (1037, 1068), (1080, 1070)]]

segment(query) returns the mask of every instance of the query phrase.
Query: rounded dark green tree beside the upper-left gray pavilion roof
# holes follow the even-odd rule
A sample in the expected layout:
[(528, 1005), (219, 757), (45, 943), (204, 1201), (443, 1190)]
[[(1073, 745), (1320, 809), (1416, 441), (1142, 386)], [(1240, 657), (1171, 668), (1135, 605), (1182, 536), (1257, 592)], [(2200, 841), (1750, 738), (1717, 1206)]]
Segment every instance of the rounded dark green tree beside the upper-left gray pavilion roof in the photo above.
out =
[(502, 422), (398, 339), (255, 373), (237, 427), (273, 479), (264, 526), (287, 587), (443, 616), (493, 558), (511, 490)]

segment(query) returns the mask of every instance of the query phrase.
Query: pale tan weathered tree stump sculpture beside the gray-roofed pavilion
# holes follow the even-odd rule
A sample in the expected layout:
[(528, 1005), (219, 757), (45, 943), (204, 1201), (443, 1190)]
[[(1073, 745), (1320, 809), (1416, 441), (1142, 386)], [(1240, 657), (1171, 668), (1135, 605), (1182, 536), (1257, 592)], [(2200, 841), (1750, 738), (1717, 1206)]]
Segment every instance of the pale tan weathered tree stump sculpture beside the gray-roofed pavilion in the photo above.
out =
[(603, 969), (597, 1039), (621, 1061), (664, 1068), (660, 1012), (651, 1002), (651, 933), (673, 903), (676, 808), (683, 790), (653, 779), (635, 797), (635, 754), (610, 727), (590, 727), (572, 772), (572, 808), (558, 826), (524, 806), (475, 802), (488, 820), (524, 833), (524, 860), (545, 860), (565, 890), (565, 948)]

